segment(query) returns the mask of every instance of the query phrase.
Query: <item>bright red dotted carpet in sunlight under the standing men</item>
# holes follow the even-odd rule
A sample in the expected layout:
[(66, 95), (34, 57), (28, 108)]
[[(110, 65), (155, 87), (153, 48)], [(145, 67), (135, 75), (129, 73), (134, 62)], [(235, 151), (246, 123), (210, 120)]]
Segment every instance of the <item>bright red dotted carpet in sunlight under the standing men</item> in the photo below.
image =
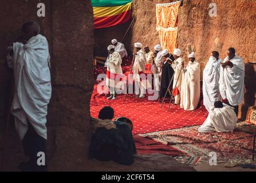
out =
[[(127, 70), (129, 70), (128, 66), (123, 66), (123, 73)], [(94, 70), (94, 74), (97, 75), (99, 73), (105, 73), (105, 68), (97, 67)], [(104, 106), (111, 106), (115, 110), (115, 117), (122, 116), (132, 120), (134, 125), (133, 134), (202, 125), (208, 114), (202, 105), (193, 112), (185, 111), (180, 109), (179, 106), (172, 105), (167, 112), (168, 104), (164, 104), (163, 108), (160, 109), (158, 100), (149, 101), (147, 97), (139, 99), (128, 95), (124, 102), (124, 96), (119, 95), (116, 100), (107, 100), (105, 95), (97, 96), (96, 86), (94, 85), (94, 92), (90, 102), (92, 117), (97, 117), (100, 109)]]

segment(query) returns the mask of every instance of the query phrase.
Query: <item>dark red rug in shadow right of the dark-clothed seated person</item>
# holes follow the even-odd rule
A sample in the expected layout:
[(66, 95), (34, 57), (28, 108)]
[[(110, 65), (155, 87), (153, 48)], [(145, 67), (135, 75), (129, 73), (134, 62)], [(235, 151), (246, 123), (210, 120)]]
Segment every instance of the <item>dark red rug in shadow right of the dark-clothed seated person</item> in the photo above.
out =
[(146, 137), (133, 136), (133, 140), (136, 144), (138, 154), (166, 154), (169, 156), (181, 156), (184, 155), (178, 149), (172, 148), (171, 146), (164, 145), (160, 142), (151, 140)]

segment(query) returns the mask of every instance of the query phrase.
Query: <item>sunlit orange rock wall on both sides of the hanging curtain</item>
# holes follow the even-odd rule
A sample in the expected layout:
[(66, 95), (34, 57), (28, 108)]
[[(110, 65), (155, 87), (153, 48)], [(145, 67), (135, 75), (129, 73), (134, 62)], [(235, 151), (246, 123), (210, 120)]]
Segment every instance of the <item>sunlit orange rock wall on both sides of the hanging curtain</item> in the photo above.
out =
[[(148, 0), (152, 3), (166, 3), (171, 1)], [(217, 17), (208, 15), (210, 3), (217, 5)], [(132, 29), (131, 43), (140, 41), (153, 49), (159, 43), (159, 35), (155, 29), (155, 5), (152, 3), (135, 1), (133, 3), (133, 17), (136, 18)], [(245, 105), (242, 106), (241, 117), (244, 120), (247, 109), (255, 103), (256, 85), (256, 1), (254, 0), (184, 0), (179, 10), (178, 45), (186, 58), (191, 51), (196, 51), (196, 59), (202, 70), (206, 65), (211, 51), (219, 51), (220, 57), (226, 57), (226, 50), (235, 47), (237, 54), (246, 63)], [(133, 44), (130, 44), (131, 51)], [(173, 51), (173, 50), (170, 50)], [(201, 74), (202, 78), (202, 74)]]

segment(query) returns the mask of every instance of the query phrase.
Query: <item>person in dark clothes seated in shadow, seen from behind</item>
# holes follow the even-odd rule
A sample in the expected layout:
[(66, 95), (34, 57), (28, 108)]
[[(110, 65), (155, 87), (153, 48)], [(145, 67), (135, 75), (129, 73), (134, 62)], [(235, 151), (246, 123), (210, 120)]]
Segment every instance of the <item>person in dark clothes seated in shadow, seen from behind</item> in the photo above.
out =
[(114, 110), (106, 106), (100, 110), (99, 119), (92, 118), (93, 134), (89, 158), (131, 165), (136, 154), (132, 131), (126, 121), (113, 122), (113, 117)]

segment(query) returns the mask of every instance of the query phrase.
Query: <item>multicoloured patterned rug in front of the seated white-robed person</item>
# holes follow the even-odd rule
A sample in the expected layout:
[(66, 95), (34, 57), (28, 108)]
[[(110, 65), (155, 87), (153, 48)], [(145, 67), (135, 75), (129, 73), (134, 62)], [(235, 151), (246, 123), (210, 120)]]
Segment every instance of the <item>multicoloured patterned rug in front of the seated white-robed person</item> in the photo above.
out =
[(186, 153), (186, 156), (176, 156), (175, 159), (183, 164), (196, 165), (208, 163), (209, 153), (216, 152), (218, 163), (229, 160), (251, 159), (253, 151), (253, 134), (256, 126), (240, 122), (235, 132), (229, 133), (199, 133), (199, 126), (140, 134), (155, 141)]

